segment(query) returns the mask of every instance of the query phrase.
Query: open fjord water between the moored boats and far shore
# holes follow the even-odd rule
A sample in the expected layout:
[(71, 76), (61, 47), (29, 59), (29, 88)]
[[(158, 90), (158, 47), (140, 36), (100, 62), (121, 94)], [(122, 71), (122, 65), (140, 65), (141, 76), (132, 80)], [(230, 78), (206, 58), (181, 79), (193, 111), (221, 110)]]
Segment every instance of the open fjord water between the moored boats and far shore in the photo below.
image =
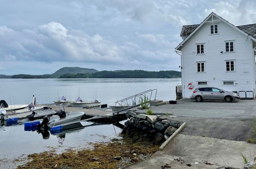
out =
[(113, 104), (117, 100), (149, 90), (157, 89), (156, 99), (175, 99), (175, 86), (181, 79), (0, 79), (0, 99), (10, 103), (32, 102), (35, 95), (38, 104), (53, 103), (65, 96), (74, 100), (97, 99)]

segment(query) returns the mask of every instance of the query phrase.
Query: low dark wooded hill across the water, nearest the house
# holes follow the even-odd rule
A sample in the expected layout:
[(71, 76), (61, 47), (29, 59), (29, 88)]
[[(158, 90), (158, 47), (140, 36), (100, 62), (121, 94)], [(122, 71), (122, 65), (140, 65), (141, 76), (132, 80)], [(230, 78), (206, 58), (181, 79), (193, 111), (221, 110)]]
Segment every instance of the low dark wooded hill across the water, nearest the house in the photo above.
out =
[(101, 71), (93, 74), (64, 74), (60, 78), (178, 78), (181, 72), (159, 71), (150, 72), (144, 70), (128, 71)]

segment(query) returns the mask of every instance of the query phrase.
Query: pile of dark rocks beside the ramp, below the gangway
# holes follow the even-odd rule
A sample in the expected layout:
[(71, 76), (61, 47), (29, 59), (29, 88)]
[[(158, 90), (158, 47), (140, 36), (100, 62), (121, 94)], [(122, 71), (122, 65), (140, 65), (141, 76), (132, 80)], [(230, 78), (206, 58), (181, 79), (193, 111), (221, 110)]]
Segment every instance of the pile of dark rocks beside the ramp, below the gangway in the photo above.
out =
[(125, 122), (126, 130), (123, 134), (134, 139), (147, 137), (157, 144), (167, 140), (182, 124), (168, 117), (136, 114), (131, 111), (126, 116), (128, 120)]

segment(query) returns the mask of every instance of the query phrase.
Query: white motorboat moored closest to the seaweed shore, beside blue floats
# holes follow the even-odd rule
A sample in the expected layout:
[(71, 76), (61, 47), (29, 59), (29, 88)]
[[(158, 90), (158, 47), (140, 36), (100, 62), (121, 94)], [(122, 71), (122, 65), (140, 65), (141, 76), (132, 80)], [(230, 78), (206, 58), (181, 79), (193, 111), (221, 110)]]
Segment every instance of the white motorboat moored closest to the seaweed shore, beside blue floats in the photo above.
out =
[(64, 118), (61, 118), (58, 115), (54, 115), (54, 116), (50, 117), (48, 126), (49, 126), (49, 128), (51, 128), (56, 125), (69, 123), (72, 121), (79, 121), (79, 120), (81, 120), (81, 118), (84, 114), (85, 114), (84, 112), (69, 112), (69, 113), (66, 113), (66, 117), (64, 117)]

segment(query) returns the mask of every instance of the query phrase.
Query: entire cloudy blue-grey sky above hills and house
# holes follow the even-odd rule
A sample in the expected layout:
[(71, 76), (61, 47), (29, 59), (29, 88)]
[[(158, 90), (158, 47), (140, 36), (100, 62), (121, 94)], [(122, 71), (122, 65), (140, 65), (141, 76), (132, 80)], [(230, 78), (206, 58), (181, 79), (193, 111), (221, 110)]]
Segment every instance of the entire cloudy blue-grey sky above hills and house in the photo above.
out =
[(212, 11), (256, 23), (256, 1), (0, 0), (0, 74), (51, 74), (62, 67), (178, 70), (182, 25)]

